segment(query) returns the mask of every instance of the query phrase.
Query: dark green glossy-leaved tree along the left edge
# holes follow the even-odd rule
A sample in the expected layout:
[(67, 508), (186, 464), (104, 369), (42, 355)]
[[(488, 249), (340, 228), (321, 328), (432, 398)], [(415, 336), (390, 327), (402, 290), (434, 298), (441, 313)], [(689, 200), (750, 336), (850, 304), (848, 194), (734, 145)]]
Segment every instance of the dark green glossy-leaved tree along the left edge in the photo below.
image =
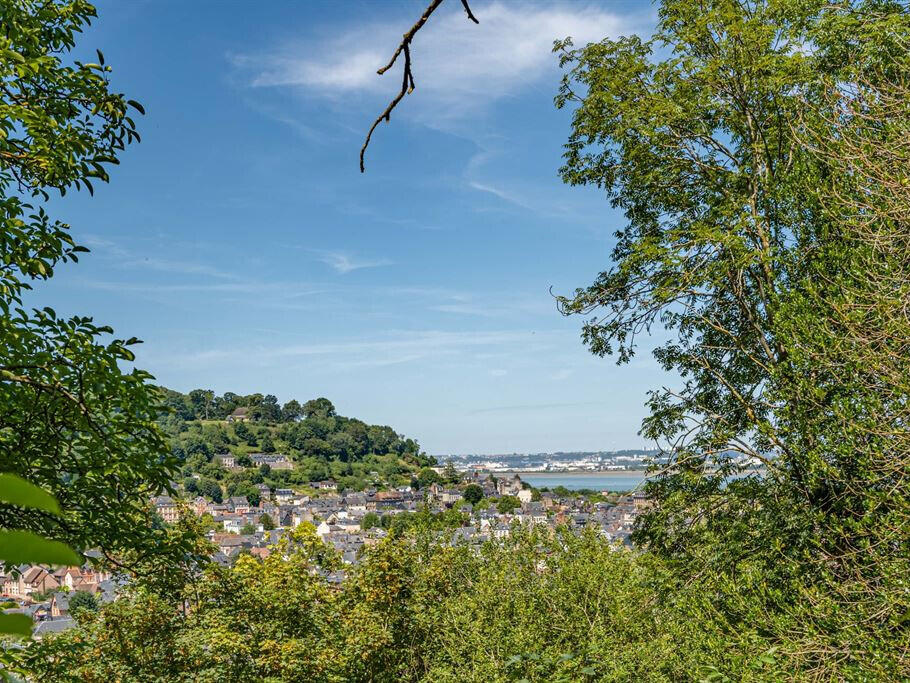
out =
[(93, 192), (139, 139), (132, 116), (142, 107), (111, 90), (101, 53), (70, 56), (94, 16), (83, 0), (2, 8), (0, 470), (46, 489), (64, 514), (2, 509), (0, 525), (117, 554), (146, 542), (146, 502), (176, 474), (155, 422), (161, 395), (151, 375), (121, 365), (135, 360), (135, 338), (23, 305), (87, 251), (50, 215), (51, 195)]

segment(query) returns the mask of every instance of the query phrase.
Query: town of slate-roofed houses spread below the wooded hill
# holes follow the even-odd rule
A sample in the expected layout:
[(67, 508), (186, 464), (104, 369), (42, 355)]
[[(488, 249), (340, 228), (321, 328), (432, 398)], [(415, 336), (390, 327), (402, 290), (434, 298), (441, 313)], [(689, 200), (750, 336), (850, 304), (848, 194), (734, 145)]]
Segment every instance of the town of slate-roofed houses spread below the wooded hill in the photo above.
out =
[[(282, 455), (262, 457), (273, 468), (290, 462)], [(222, 465), (234, 466), (230, 456), (222, 458)], [(215, 502), (200, 495), (193, 499), (157, 496), (151, 505), (164, 524), (174, 524), (187, 514), (205, 520), (210, 527), (206, 536), (214, 547), (212, 559), (223, 566), (231, 566), (245, 554), (268, 557), (282, 537), (301, 524), (312, 525), (318, 537), (338, 552), (342, 566), (350, 566), (357, 564), (365, 547), (407, 529), (419, 513), (436, 519), (438, 533), (447, 533), (452, 544), (475, 548), (507, 536), (516, 525), (592, 529), (629, 546), (633, 524), (647, 504), (640, 492), (539, 491), (517, 474), (497, 477), (475, 469), (453, 476), (451, 466), (435, 469), (440, 480), (422, 488), (339, 490), (335, 481), (325, 480), (310, 482), (308, 493), (301, 493), (259, 484), (259, 495), (251, 496), (255, 504), (246, 496)], [(344, 577), (341, 569), (325, 578), (340, 584)], [(0, 576), (0, 585), (2, 598), (15, 603), (8, 613), (31, 616), (37, 623), (34, 637), (40, 639), (75, 626), (74, 603), (95, 608), (110, 602), (128, 579), (91, 564), (58, 569), (35, 565)]]

